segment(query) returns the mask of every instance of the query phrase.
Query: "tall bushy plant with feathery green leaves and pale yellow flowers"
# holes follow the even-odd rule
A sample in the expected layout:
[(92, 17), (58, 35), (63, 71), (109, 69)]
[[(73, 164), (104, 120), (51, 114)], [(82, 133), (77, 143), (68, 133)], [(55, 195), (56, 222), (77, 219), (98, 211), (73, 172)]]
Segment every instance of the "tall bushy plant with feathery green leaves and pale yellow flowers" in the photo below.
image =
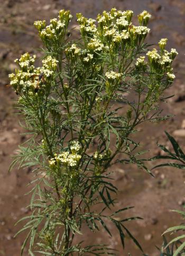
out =
[(128, 235), (141, 249), (125, 226), (136, 218), (123, 216), (130, 207), (113, 211), (117, 188), (110, 167), (135, 163), (149, 171), (134, 153), (139, 144), (132, 134), (138, 124), (166, 118), (156, 103), (175, 77), (177, 51), (165, 50), (166, 39), (159, 51), (149, 50), (145, 38), (151, 15), (138, 15), (138, 26), (132, 16), (115, 8), (97, 20), (77, 14), (81, 38), (72, 42), (72, 16), (61, 10), (49, 25), (34, 23), (44, 45), (42, 66), (35, 67), (36, 57), (29, 53), (15, 60), (19, 68), (10, 74), (11, 85), (30, 139), (11, 168), (34, 166), (35, 173), (31, 215), (22, 218), (26, 223), (18, 232), (27, 231), (22, 252), (30, 243), (30, 255), (114, 254), (108, 245), (80, 240), (84, 225), (111, 236), (110, 222), (123, 248)]

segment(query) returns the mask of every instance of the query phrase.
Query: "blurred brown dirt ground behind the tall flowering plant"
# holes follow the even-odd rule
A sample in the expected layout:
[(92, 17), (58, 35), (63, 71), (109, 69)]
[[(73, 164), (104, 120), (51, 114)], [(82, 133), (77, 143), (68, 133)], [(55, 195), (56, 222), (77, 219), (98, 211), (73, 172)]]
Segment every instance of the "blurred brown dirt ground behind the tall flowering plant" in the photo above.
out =
[[(179, 55), (174, 63), (177, 72), (173, 87), (166, 93), (174, 94), (168, 104), (161, 104), (165, 114), (174, 117), (159, 124), (149, 123), (141, 126), (139, 140), (145, 149), (151, 149), (150, 156), (158, 153), (156, 141), (169, 145), (164, 131), (173, 133), (180, 129), (185, 118), (185, 88), (184, 88), (184, 45), (185, 45), (185, 2), (184, 0), (0, 0), (0, 255), (20, 255), (24, 234), (13, 238), (20, 226), (15, 222), (28, 213), (25, 206), (29, 197), (24, 196), (28, 188), (26, 184), (32, 179), (29, 169), (13, 170), (8, 173), (11, 156), (15, 154), (18, 144), (26, 137), (18, 123), (18, 116), (14, 115), (13, 108), (16, 95), (8, 84), (8, 73), (15, 68), (13, 60), (20, 54), (29, 51), (36, 53), (41, 46), (33, 27), (35, 20), (49, 20), (57, 15), (58, 10), (66, 8), (75, 16), (82, 12), (87, 17), (96, 17), (103, 10), (116, 7), (120, 10), (131, 9), (136, 14), (143, 10), (152, 13), (150, 22), (151, 33), (148, 41), (158, 42), (161, 38), (169, 38), (168, 47), (177, 48)], [(76, 24), (75, 17), (71, 26)], [(75, 30), (74, 30), (75, 31)], [(77, 32), (73, 32), (77, 33)], [(74, 34), (75, 36), (76, 34)], [(176, 138), (185, 149), (184, 138)], [(153, 163), (149, 166), (152, 167)], [(124, 168), (124, 169), (123, 169)], [(159, 255), (155, 245), (162, 242), (161, 233), (166, 227), (179, 224), (179, 217), (170, 213), (169, 209), (182, 209), (184, 201), (184, 171), (163, 168), (154, 172), (155, 178), (138, 170), (133, 166), (117, 166), (115, 182), (119, 188), (118, 206), (134, 205), (131, 211), (134, 215), (144, 218), (127, 225), (131, 228), (143, 249), (150, 256)], [(112, 227), (110, 226), (110, 229)], [(104, 233), (91, 234), (85, 230), (87, 243), (108, 244), (119, 250), (118, 255), (142, 255), (131, 241), (126, 241), (126, 250), (123, 252), (118, 234), (107, 237)], [(27, 255), (25, 252), (24, 255)]]

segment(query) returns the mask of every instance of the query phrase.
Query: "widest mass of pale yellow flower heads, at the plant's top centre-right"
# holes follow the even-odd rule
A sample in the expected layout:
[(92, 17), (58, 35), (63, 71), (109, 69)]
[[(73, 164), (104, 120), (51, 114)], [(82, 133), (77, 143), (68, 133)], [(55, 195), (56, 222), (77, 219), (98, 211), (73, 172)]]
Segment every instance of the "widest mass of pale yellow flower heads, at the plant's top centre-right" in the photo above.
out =
[[(134, 26), (131, 23), (133, 11), (117, 11), (113, 8), (110, 12), (104, 11), (102, 15), (98, 14), (97, 22), (95, 20), (87, 19), (82, 14), (77, 14), (77, 21), (80, 25), (82, 36), (89, 39), (96, 38), (101, 44), (111, 44), (113, 42), (122, 43), (131, 38), (131, 41), (137, 42), (145, 38), (150, 29), (145, 25)], [(144, 11), (140, 14), (143, 20), (149, 20), (151, 15)], [(102, 48), (102, 47), (101, 47)]]

